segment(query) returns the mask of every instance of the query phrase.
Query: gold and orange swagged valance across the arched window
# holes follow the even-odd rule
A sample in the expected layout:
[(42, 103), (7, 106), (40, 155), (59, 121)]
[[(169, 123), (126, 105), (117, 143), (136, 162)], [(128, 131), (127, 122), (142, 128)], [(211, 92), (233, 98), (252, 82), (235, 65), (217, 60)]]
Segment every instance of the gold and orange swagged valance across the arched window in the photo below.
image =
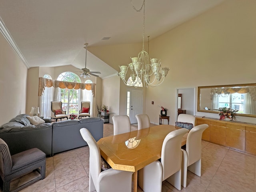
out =
[(61, 89), (86, 89), (92, 90), (92, 96), (95, 94), (95, 83), (76, 83), (76, 82), (66, 82), (66, 81), (57, 81), (52, 79), (47, 79), (40, 77), (39, 78), (39, 87), (38, 87), (38, 96), (42, 96), (45, 87), (59, 87)]

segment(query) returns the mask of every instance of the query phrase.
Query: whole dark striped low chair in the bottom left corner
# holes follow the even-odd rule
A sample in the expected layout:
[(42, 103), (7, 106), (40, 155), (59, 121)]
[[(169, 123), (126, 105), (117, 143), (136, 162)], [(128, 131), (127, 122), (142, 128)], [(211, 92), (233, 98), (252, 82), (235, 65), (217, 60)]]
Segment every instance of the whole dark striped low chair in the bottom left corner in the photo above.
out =
[[(40, 169), (39, 169), (40, 168)], [(46, 154), (38, 148), (32, 148), (10, 155), (8, 145), (0, 138), (0, 177), (2, 192), (10, 192), (10, 182), (20, 176), (36, 170), (40, 175), (33, 180), (18, 186), (12, 192), (17, 192), (30, 184), (45, 178)]]

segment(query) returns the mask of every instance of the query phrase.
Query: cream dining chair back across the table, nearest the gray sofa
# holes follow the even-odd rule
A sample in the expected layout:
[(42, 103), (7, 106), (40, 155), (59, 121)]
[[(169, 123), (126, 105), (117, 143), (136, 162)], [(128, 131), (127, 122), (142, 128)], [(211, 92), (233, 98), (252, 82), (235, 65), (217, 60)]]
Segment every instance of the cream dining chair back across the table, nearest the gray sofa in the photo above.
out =
[(127, 133), (131, 131), (130, 118), (127, 115), (115, 115), (112, 117), (114, 135)]

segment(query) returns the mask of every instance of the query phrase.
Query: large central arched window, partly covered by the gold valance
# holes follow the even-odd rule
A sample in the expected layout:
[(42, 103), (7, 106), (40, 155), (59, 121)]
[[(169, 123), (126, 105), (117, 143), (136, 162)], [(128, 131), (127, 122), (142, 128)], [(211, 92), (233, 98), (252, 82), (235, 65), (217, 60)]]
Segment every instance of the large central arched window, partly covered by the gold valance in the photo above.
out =
[[(79, 76), (72, 72), (63, 72), (58, 76), (57, 80), (78, 83), (81, 82)], [(66, 111), (67, 114), (78, 114), (79, 98), (80, 89), (60, 89), (60, 100), (62, 101), (62, 109)]]

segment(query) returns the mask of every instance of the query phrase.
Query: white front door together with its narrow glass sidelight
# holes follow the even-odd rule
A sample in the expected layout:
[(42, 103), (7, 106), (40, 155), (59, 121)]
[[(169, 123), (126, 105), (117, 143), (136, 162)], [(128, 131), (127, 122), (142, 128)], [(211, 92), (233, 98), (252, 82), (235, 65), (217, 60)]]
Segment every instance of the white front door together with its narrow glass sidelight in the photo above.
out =
[(129, 116), (131, 124), (137, 123), (136, 114), (142, 113), (143, 90), (128, 89), (126, 94), (126, 115)]

